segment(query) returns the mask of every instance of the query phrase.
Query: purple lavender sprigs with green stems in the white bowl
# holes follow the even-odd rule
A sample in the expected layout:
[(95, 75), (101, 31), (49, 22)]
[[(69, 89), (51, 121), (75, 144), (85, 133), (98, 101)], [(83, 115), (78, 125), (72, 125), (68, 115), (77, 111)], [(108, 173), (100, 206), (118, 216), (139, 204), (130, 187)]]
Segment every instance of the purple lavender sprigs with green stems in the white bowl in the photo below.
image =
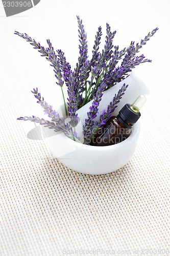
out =
[[(52, 106), (44, 101), (44, 98), (41, 97), (41, 94), (36, 88), (33, 89), (32, 93), (37, 99), (37, 103), (41, 105), (44, 109), (44, 113), (47, 114), (51, 121), (36, 116), (25, 116), (17, 119), (39, 123), (49, 129), (53, 129), (55, 132), (61, 131), (70, 139), (80, 142), (80, 138), (76, 133), (76, 126), (79, 120), (76, 112), (83, 105), (92, 101), (87, 113), (87, 118), (85, 119), (85, 124), (83, 125), (84, 144), (88, 144), (96, 130), (102, 128), (111, 117), (118, 102), (125, 94), (128, 84), (124, 83), (122, 88), (113, 97), (113, 100), (108, 102), (107, 110), (103, 110), (100, 115), (100, 120), (94, 121), (94, 118), (98, 114), (98, 107), (104, 91), (128, 77), (132, 69), (140, 63), (151, 62), (151, 60), (146, 59), (143, 54), (140, 56), (136, 56), (136, 54), (150, 37), (156, 33), (158, 28), (150, 32), (144, 39), (141, 39), (140, 43), (135, 44), (135, 42), (132, 41), (129, 47), (119, 50), (118, 46), (113, 45), (113, 38), (116, 31), (111, 32), (109, 24), (106, 24), (105, 46), (102, 52), (100, 52), (99, 45), (101, 42), (102, 28), (99, 27), (95, 35), (92, 58), (89, 60), (87, 35), (82, 24), (82, 19), (80, 19), (79, 16), (77, 16), (77, 19), (80, 44), (79, 58), (74, 70), (71, 69), (69, 62), (66, 61), (64, 53), (61, 50), (54, 50), (50, 39), (47, 39), (47, 48), (45, 48), (26, 33), (22, 34), (15, 31), (16, 35), (30, 42), (34, 49), (38, 50), (41, 56), (45, 57), (46, 60), (50, 62), (50, 66), (53, 67), (57, 79), (56, 83), (61, 88), (65, 113), (68, 116), (68, 121), (66, 122), (64, 117), (60, 117), (60, 115), (53, 110)], [(63, 85), (67, 87), (67, 102), (62, 89)]]

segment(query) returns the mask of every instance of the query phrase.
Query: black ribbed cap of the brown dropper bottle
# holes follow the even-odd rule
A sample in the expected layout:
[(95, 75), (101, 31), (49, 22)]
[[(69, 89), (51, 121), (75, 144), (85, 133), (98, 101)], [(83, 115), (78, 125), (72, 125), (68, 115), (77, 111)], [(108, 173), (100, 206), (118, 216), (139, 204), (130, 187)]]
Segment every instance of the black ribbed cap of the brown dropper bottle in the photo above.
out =
[(117, 119), (122, 122), (126, 127), (130, 128), (133, 126), (134, 123), (137, 122), (139, 117), (141, 116), (140, 112), (134, 112), (130, 108), (130, 104), (126, 104), (123, 108), (119, 111), (117, 115)]

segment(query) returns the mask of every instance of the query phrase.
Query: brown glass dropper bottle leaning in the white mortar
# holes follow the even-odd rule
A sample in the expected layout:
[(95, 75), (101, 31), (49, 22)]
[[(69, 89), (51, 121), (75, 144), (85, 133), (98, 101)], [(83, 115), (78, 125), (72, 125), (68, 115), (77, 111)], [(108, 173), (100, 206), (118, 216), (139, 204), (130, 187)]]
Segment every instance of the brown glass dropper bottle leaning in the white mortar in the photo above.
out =
[(110, 117), (103, 128), (92, 136), (90, 145), (108, 146), (127, 139), (131, 134), (132, 126), (140, 118), (139, 110), (146, 101), (147, 98), (140, 95), (131, 105), (128, 103), (124, 105), (117, 117)]

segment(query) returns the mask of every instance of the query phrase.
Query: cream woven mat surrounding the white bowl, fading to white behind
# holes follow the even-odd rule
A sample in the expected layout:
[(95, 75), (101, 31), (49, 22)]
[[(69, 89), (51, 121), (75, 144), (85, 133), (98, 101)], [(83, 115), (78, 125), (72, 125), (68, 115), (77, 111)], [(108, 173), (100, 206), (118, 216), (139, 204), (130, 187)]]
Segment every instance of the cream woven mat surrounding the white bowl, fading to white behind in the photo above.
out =
[[(41, 0), (14, 17), (2, 17), (2, 5), (0, 12), (0, 254), (60, 256), (63, 249), (99, 248), (141, 255), (142, 249), (158, 254), (169, 248), (169, 1)], [(141, 110), (138, 146), (128, 164), (107, 175), (79, 175), (64, 167), (45, 142), (26, 138), (33, 123), (16, 120), (43, 116), (33, 87), (54, 108), (61, 92), (47, 61), (14, 30), (42, 45), (51, 38), (75, 66), (77, 14), (90, 56), (94, 34), (101, 25), (105, 36), (106, 22), (117, 30), (120, 48), (159, 27), (141, 50), (153, 62), (135, 71), (151, 89)]]

